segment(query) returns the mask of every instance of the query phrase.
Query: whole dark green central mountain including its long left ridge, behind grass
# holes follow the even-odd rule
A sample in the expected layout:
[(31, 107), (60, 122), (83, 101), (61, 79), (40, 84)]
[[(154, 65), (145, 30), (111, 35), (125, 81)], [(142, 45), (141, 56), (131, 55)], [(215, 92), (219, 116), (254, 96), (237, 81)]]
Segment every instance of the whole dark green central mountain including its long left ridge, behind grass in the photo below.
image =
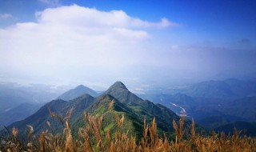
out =
[[(113, 106), (108, 110), (110, 102), (113, 101)], [(113, 86), (110, 86), (106, 92), (97, 98), (89, 94), (83, 94), (69, 101), (62, 99), (53, 100), (45, 106), (42, 106), (42, 108), (30, 117), (19, 122), (14, 122), (8, 127), (12, 128), (15, 126), (18, 130), (24, 132), (27, 129), (26, 125), (29, 124), (34, 126), (34, 133), (38, 134), (40, 131), (48, 128), (48, 126), (46, 126), (46, 122), (48, 121), (54, 130), (58, 131), (62, 129), (62, 123), (56, 120), (53, 121), (52, 118), (50, 118), (48, 108), (50, 108), (54, 114), (57, 114), (59, 118), (65, 118), (66, 111), (72, 106), (74, 106), (74, 111), (70, 124), (74, 134), (77, 133), (79, 127), (84, 126), (84, 112), (92, 115), (103, 114), (104, 119), (102, 125), (104, 130), (115, 130), (117, 128), (115, 114), (118, 114), (120, 117), (124, 114), (124, 128), (129, 130), (130, 134), (135, 134), (138, 137), (142, 136), (144, 118), (146, 118), (147, 122), (151, 122), (153, 118), (156, 118), (158, 130), (160, 132), (164, 131), (170, 136), (174, 132), (172, 120), (178, 121), (180, 118), (177, 114), (174, 114), (173, 111), (166, 108), (166, 106), (138, 98), (138, 96), (131, 93), (122, 82), (115, 82)], [(190, 123), (190, 120), (186, 120), (185, 126), (190, 125)], [(197, 128), (200, 129), (198, 126)]]

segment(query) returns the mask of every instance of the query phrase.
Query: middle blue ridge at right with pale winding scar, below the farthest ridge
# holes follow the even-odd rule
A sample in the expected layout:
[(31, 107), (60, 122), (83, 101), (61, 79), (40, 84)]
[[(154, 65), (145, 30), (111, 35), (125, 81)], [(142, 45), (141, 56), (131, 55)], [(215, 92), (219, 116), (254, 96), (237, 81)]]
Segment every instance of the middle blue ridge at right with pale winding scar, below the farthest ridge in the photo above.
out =
[(230, 121), (256, 121), (256, 97), (239, 99), (192, 98), (186, 94), (154, 94), (142, 96), (161, 103), (176, 114), (198, 121), (212, 115), (222, 115)]

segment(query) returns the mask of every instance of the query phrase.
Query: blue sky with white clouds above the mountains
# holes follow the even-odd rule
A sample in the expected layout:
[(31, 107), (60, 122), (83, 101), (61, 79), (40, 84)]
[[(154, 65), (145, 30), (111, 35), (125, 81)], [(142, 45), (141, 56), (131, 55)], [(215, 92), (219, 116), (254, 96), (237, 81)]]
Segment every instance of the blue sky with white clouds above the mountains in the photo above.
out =
[(256, 1), (0, 1), (2, 82), (166, 87), (255, 65)]

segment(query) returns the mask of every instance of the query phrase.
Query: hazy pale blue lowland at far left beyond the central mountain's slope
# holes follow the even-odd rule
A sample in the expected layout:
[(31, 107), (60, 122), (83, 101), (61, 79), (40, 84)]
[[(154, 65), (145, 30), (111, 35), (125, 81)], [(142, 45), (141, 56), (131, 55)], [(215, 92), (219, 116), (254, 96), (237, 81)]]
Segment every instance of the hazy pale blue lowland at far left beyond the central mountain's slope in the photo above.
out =
[(12, 82), (0, 83), (0, 125), (22, 120), (45, 102), (58, 97), (65, 86), (30, 84), (22, 86)]

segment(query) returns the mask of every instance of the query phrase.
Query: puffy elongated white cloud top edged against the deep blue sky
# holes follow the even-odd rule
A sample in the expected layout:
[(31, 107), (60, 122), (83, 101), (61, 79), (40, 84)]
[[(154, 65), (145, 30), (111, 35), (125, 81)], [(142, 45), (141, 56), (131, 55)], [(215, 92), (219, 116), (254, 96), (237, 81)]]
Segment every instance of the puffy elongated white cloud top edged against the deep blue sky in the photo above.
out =
[(38, 22), (58, 22), (81, 26), (114, 26), (122, 28), (178, 26), (178, 23), (170, 22), (167, 18), (162, 18), (160, 22), (148, 22), (139, 18), (132, 18), (122, 10), (106, 12), (77, 5), (46, 9), (42, 12), (37, 12), (36, 17)]

